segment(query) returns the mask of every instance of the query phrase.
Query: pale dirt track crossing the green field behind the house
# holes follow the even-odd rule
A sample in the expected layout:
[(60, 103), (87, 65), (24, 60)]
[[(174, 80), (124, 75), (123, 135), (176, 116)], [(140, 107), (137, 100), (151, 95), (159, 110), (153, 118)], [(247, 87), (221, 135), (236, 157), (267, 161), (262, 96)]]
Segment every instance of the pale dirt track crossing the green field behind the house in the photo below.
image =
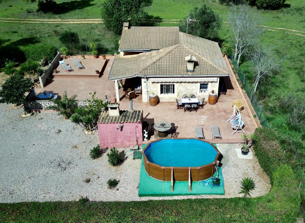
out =
[[(163, 23), (179, 23), (180, 19), (163, 19)], [(103, 19), (14, 19), (14, 18), (0, 18), (0, 22), (8, 22), (8, 23), (104, 23)], [(228, 22), (223, 22), (228, 23)], [(226, 25), (228, 26), (228, 25)], [(298, 35), (305, 37), (304, 31), (286, 29), (282, 27), (272, 27), (272, 26), (260, 26), (269, 31), (292, 31), (296, 33), (286, 32), (292, 35)], [(277, 29), (277, 30), (274, 30)]]

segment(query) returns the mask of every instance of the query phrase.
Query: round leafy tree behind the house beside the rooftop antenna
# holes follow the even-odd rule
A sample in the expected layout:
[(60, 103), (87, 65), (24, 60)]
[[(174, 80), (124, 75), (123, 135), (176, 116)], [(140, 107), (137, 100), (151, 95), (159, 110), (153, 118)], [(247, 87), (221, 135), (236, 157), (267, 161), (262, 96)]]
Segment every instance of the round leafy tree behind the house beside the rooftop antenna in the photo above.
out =
[(188, 24), (188, 34), (209, 40), (217, 40), (218, 30), (221, 28), (221, 18), (208, 6), (195, 7), (188, 16), (180, 21), (179, 29), (186, 33), (187, 18), (196, 19)]

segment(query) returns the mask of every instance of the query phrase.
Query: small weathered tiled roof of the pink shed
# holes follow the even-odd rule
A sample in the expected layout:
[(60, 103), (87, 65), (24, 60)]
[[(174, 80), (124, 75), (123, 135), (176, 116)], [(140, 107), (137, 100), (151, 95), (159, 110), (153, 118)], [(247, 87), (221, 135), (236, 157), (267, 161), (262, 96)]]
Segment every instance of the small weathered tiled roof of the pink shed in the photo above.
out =
[(143, 111), (135, 110), (130, 112), (127, 110), (120, 111), (120, 116), (109, 116), (108, 110), (102, 111), (99, 116), (98, 123), (139, 123), (142, 121)]

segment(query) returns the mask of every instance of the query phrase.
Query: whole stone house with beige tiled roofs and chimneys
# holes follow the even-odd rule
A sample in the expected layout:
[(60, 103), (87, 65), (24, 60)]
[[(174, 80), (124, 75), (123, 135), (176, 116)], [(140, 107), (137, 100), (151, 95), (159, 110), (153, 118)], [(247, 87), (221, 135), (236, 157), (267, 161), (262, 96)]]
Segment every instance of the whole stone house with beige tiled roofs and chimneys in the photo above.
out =
[(185, 94), (207, 98), (212, 90), (218, 93), (220, 77), (229, 76), (217, 42), (180, 32), (178, 26), (124, 23), (119, 51), (108, 79), (118, 92), (122, 79), (140, 78), (143, 102), (151, 93), (159, 101), (175, 101)]

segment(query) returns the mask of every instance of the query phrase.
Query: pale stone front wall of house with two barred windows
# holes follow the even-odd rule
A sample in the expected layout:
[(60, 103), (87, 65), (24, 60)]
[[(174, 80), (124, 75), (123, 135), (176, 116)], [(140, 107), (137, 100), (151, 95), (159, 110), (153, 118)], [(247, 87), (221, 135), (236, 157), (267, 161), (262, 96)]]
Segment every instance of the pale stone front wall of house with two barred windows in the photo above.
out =
[[(214, 90), (218, 93), (218, 85), (219, 85), (219, 77), (217, 81), (215, 78), (211, 78), (213, 81), (185, 81), (185, 82), (162, 82), (158, 80), (147, 80), (147, 89), (148, 89), (148, 96), (151, 93), (155, 93), (158, 96), (158, 101), (176, 101), (177, 99), (182, 98), (183, 95), (190, 95), (194, 94), (196, 97), (205, 98), (207, 100), (209, 93)], [(208, 90), (206, 93), (200, 93), (200, 83), (207, 83)], [(161, 95), (160, 94), (160, 84), (174, 84), (175, 85), (175, 93), (173, 95)], [(147, 89), (146, 89), (146, 79), (142, 78), (142, 98), (143, 102), (147, 102)]]

